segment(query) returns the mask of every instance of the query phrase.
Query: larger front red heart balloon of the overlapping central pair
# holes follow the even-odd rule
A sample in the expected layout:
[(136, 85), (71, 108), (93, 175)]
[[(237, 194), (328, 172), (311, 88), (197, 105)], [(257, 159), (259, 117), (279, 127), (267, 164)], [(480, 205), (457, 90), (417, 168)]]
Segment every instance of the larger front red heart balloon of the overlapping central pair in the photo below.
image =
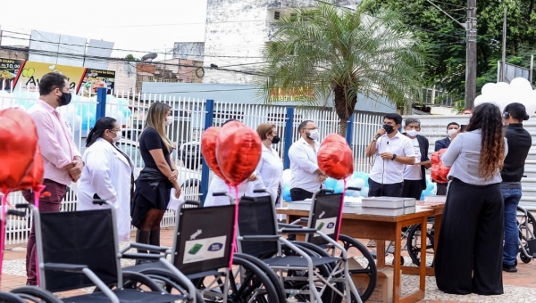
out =
[(216, 142), (216, 157), (227, 184), (238, 186), (255, 171), (261, 160), (261, 138), (239, 121), (225, 124)]

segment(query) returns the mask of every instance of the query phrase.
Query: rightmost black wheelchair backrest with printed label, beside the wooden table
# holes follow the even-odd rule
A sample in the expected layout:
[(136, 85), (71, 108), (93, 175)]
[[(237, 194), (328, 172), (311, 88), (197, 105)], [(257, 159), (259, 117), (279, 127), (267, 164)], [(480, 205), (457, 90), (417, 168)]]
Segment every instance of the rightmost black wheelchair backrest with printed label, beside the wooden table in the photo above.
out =
[[(325, 233), (331, 239), (337, 240), (337, 233), (340, 224), (340, 208), (342, 193), (317, 192), (314, 194), (309, 212), (310, 228), (315, 228)], [(316, 245), (327, 244), (327, 242), (316, 233), (307, 233), (306, 242)]]

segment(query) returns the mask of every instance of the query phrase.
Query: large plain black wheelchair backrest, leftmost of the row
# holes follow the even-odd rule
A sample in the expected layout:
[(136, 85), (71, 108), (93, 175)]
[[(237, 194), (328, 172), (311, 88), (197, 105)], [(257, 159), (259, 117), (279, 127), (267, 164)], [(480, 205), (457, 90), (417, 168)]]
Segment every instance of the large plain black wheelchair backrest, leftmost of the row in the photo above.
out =
[[(85, 265), (104, 283), (117, 283), (121, 267), (112, 209), (40, 213), (37, 221), (40, 221), (36, 224), (39, 264)], [(45, 285), (47, 291), (95, 285), (85, 274), (51, 270), (39, 273), (40, 285)]]

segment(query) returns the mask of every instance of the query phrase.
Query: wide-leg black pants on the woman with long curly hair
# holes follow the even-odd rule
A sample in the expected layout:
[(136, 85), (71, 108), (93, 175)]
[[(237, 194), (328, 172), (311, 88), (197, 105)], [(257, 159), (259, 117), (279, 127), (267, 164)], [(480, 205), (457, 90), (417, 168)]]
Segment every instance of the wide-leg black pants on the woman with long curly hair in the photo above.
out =
[(500, 184), (451, 181), (435, 255), (440, 291), (503, 293), (503, 217)]

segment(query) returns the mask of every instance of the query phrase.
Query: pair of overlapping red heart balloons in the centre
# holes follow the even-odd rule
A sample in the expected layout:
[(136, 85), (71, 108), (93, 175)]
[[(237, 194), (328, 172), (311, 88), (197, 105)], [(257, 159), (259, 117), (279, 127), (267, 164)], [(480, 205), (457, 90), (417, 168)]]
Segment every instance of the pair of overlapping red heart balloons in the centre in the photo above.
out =
[(259, 135), (239, 121), (209, 127), (201, 137), (201, 153), (206, 164), (232, 186), (238, 186), (255, 172), (261, 152)]

